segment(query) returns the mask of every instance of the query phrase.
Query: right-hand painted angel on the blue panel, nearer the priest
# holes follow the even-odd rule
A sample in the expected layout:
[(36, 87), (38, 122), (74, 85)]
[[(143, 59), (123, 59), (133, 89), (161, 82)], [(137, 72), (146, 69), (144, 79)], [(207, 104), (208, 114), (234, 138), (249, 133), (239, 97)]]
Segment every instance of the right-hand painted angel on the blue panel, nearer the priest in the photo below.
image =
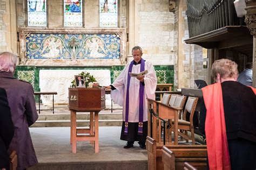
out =
[[(103, 51), (103, 53), (99, 53), (99, 50)], [(106, 56), (106, 52), (104, 49), (104, 42), (98, 38), (93, 37), (92, 39), (87, 39), (85, 41), (85, 54), (87, 51), (90, 51), (90, 57), (91, 58), (103, 58)]]

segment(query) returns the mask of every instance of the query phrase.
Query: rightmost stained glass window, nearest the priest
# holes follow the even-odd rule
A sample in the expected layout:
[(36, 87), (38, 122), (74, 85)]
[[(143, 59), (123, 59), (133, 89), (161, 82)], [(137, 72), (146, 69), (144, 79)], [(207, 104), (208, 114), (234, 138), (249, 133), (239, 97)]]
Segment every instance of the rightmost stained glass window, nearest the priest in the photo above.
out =
[(117, 27), (117, 0), (99, 0), (99, 25)]

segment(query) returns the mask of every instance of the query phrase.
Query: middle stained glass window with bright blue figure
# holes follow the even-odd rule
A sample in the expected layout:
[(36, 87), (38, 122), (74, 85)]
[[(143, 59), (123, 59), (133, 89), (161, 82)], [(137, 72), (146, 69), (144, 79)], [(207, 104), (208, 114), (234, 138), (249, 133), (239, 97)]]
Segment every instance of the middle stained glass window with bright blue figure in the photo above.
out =
[(82, 0), (64, 0), (64, 26), (83, 26)]

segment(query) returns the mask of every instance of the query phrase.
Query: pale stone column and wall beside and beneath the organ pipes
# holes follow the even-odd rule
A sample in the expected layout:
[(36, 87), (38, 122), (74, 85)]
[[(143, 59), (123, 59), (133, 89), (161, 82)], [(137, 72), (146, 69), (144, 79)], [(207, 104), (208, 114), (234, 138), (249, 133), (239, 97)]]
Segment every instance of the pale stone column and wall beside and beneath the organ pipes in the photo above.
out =
[(185, 44), (189, 38), (186, 0), (176, 1), (174, 13), (174, 88), (197, 88), (194, 80), (206, 79), (203, 68), (203, 48), (198, 45)]

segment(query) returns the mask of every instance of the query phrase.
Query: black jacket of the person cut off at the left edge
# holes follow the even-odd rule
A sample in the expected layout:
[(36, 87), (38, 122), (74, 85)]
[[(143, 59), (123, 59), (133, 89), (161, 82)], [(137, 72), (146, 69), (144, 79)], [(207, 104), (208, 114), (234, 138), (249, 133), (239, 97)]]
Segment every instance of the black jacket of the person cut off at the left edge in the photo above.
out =
[(14, 136), (14, 124), (5, 90), (0, 88), (0, 169), (10, 169), (8, 147)]

